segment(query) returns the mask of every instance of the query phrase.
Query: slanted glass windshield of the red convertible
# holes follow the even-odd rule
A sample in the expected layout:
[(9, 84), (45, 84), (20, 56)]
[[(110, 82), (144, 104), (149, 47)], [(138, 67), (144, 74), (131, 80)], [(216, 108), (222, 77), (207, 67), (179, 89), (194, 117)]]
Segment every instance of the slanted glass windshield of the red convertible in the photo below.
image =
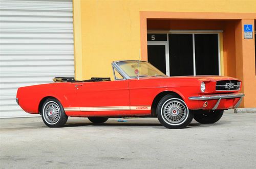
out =
[(165, 76), (152, 64), (145, 61), (120, 61), (116, 63), (130, 78)]

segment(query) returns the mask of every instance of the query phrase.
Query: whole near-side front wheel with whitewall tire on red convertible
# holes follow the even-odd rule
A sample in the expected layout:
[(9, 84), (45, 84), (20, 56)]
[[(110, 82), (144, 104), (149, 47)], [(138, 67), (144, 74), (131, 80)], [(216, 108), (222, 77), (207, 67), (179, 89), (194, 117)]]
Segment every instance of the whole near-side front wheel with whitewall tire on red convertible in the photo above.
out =
[(194, 112), (175, 94), (165, 95), (157, 105), (157, 118), (168, 129), (181, 129), (190, 124)]

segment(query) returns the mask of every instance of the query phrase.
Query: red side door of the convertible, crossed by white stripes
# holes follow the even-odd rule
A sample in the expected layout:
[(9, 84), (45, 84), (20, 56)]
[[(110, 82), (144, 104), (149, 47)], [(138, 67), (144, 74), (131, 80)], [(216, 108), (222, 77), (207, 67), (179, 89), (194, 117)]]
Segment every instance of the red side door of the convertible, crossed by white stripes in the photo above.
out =
[(80, 115), (118, 116), (130, 113), (126, 80), (76, 83), (75, 88)]

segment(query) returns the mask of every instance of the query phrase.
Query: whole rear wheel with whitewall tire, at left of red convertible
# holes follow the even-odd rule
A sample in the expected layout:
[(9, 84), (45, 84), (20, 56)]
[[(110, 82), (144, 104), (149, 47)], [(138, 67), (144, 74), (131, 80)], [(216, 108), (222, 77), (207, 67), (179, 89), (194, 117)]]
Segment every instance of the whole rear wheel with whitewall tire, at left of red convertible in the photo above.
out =
[(48, 127), (62, 127), (66, 124), (68, 116), (57, 99), (47, 99), (41, 108), (42, 120)]

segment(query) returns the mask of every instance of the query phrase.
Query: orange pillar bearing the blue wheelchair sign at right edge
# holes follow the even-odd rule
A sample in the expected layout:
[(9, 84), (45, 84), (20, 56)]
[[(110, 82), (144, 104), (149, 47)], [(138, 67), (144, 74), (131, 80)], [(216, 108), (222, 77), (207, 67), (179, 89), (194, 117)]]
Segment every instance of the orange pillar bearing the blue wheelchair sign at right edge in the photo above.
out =
[(242, 19), (236, 24), (236, 68), (237, 77), (243, 81), (245, 93), (244, 107), (256, 107), (256, 76), (255, 76), (255, 45), (253, 39), (244, 39), (243, 25), (251, 24), (254, 27), (254, 19)]

